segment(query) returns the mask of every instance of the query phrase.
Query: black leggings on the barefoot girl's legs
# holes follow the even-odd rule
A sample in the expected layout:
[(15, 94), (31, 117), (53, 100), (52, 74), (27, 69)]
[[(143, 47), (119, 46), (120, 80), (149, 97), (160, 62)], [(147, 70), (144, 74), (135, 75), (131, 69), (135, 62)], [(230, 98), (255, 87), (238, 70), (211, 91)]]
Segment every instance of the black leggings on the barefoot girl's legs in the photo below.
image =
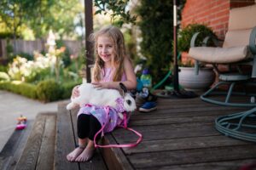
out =
[[(96, 119), (95, 116), (81, 114), (78, 117), (78, 136), (79, 139), (89, 138), (90, 140), (94, 139), (96, 133), (102, 128), (101, 123)], [(100, 139), (101, 135), (99, 134), (96, 140)]]

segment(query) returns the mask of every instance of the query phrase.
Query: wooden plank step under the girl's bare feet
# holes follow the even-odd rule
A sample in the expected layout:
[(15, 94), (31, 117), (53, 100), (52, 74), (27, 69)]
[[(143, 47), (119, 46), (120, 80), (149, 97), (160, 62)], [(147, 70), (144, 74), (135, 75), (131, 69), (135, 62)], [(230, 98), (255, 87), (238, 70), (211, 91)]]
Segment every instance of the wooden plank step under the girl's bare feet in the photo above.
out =
[(96, 150), (96, 153), (90, 161), (81, 163), (67, 161), (67, 154), (78, 145), (76, 124), (78, 111), (67, 111), (66, 105), (67, 103), (62, 103), (58, 106), (54, 163), (55, 170), (108, 169), (99, 150)]

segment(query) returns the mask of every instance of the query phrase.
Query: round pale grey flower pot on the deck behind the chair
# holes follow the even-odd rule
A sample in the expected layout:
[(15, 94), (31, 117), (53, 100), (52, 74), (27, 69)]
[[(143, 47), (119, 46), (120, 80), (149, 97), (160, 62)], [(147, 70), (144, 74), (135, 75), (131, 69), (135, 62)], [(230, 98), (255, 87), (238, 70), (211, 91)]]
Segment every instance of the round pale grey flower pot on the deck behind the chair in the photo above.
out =
[(179, 67), (178, 82), (189, 91), (205, 91), (215, 80), (215, 73), (211, 67), (200, 68), (199, 74), (195, 74), (194, 67)]

